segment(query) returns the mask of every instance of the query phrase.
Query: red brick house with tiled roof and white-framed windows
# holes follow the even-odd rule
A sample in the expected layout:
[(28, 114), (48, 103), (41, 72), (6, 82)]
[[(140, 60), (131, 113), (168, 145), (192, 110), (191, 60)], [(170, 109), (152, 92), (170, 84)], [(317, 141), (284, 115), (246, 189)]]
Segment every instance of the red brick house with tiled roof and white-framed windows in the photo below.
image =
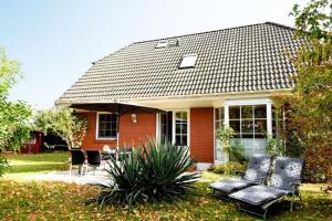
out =
[[(121, 101), (167, 110), (121, 117), (120, 143), (149, 136), (189, 147), (199, 168), (229, 160), (215, 137), (221, 124), (234, 128), (247, 155), (264, 152), (268, 135), (283, 125), (272, 95), (294, 85), (287, 53), (302, 42), (293, 34), (292, 28), (266, 22), (135, 42), (94, 62), (55, 104)], [(115, 114), (77, 112), (89, 119), (82, 148), (115, 146)]]

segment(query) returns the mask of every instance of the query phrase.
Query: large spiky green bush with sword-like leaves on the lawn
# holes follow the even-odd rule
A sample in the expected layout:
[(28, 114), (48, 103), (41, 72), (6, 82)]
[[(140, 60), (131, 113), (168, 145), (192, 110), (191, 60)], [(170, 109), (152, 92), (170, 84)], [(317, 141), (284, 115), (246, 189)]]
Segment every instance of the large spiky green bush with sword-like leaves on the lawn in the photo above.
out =
[(116, 162), (111, 158), (111, 186), (97, 185), (102, 190), (98, 206), (135, 204), (146, 201), (173, 202), (191, 193), (197, 173), (185, 173), (194, 167), (187, 148), (148, 141), (133, 148), (128, 158)]

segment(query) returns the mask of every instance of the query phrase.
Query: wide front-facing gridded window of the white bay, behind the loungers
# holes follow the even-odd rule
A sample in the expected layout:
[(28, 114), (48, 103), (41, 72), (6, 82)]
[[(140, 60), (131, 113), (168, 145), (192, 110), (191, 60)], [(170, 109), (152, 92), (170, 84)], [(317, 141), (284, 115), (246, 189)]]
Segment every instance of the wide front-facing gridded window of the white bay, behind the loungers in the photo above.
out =
[(229, 126), (235, 130), (232, 141), (240, 143), (247, 156), (266, 151), (267, 105), (230, 106)]

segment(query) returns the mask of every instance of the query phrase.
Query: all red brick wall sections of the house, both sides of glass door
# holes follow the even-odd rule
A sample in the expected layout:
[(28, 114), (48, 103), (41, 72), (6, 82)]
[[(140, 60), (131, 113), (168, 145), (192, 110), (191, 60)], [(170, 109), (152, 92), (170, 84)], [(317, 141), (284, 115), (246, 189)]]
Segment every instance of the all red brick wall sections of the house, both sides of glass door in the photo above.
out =
[[(89, 129), (82, 144), (83, 149), (102, 149), (104, 145), (116, 147), (116, 140), (96, 140), (96, 114), (84, 113), (87, 117)], [(120, 141), (124, 144), (145, 140), (147, 136), (155, 137), (156, 115), (138, 114), (137, 123), (132, 123), (131, 115), (124, 115), (120, 122)], [(214, 161), (214, 108), (190, 109), (190, 154), (197, 162)]]

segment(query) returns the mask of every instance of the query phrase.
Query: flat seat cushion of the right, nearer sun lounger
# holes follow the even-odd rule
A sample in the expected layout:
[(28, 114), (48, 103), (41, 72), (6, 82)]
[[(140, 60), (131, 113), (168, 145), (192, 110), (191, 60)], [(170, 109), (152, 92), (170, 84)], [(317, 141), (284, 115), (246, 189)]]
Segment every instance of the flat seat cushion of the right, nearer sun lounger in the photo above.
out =
[(230, 198), (247, 202), (251, 206), (261, 206), (270, 200), (274, 200), (288, 194), (288, 191), (274, 189), (267, 186), (252, 186), (229, 194)]

